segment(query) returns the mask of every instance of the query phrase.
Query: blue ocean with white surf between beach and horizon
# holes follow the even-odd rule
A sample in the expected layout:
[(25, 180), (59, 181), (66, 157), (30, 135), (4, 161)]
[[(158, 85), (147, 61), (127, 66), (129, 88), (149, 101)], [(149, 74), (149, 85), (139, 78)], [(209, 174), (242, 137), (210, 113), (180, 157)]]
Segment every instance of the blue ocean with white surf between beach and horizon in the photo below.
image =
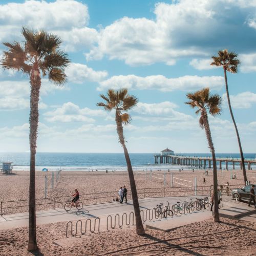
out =
[[(202, 153), (182, 153), (183, 156), (211, 156)], [(240, 158), (239, 154), (216, 154), (216, 157)], [(244, 154), (246, 159), (255, 159), (255, 154)], [(181, 166), (155, 164), (154, 153), (130, 153), (133, 169), (177, 169)], [(29, 170), (30, 153), (0, 153), (0, 161), (11, 161), (15, 170)], [(232, 167), (230, 164), (229, 167)], [(126, 170), (122, 153), (40, 153), (36, 154), (36, 170)], [(183, 169), (192, 167), (185, 167)], [(195, 168), (195, 167), (193, 167)]]

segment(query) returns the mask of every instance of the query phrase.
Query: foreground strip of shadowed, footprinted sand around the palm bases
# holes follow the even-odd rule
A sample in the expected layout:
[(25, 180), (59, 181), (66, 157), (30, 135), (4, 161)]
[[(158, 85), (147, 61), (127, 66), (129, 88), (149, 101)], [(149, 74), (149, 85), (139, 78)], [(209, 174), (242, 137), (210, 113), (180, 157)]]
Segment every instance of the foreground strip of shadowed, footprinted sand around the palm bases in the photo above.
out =
[[(173, 231), (115, 229), (81, 236), (69, 246), (53, 242), (65, 238), (66, 223), (37, 227), (40, 255), (255, 255), (256, 224), (221, 218), (206, 220)], [(2, 256), (27, 252), (28, 228), (0, 231)], [(39, 254), (38, 254), (39, 255)]]

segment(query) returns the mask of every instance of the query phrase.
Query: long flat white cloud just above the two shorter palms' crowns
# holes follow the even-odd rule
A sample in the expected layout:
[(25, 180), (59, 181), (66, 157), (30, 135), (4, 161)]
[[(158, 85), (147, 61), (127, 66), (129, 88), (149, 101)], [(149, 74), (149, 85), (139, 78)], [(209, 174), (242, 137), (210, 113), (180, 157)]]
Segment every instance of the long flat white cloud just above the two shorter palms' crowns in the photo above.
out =
[(203, 87), (219, 90), (224, 84), (221, 76), (182, 76), (178, 78), (167, 78), (162, 75), (140, 77), (136, 75), (119, 75), (101, 81), (98, 91), (109, 88), (120, 89), (127, 88), (129, 90), (160, 90), (168, 91), (190, 91), (198, 90)]

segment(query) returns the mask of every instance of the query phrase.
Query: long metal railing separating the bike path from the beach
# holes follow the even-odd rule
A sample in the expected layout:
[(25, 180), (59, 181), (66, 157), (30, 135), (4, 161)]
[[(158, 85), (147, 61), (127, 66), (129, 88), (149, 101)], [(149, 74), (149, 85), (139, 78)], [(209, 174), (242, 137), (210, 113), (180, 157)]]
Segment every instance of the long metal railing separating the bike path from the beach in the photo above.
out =
[[(198, 186), (196, 188), (197, 196), (207, 196), (210, 194), (212, 186)], [(83, 205), (101, 204), (113, 202), (118, 191), (105, 191), (101, 193), (82, 194), (79, 195), (79, 200)], [(139, 199), (151, 197), (182, 197), (194, 196), (195, 187), (155, 187), (155, 188), (138, 188), (137, 196)], [(63, 207), (70, 196), (49, 197), (36, 199), (36, 210), (50, 210)], [(127, 200), (131, 200), (131, 192), (127, 195)], [(4, 201), (0, 203), (0, 215), (16, 214), (27, 212), (29, 200)]]

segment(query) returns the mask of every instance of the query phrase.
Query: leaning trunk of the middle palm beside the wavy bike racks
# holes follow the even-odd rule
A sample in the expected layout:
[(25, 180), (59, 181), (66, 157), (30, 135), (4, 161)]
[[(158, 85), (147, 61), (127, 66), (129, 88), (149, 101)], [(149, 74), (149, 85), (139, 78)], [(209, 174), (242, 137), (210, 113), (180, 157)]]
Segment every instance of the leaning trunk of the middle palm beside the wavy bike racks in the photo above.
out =
[(124, 141), (124, 137), (123, 137), (122, 120), (118, 114), (118, 111), (116, 111), (116, 125), (117, 125), (117, 134), (119, 137), (119, 142), (123, 146), (123, 152), (124, 152), (124, 156), (125, 156), (125, 160), (126, 160), (126, 164), (127, 164), (128, 174), (129, 174), (129, 180), (130, 180), (130, 186), (131, 186), (131, 192), (132, 192), (132, 198), (133, 198), (133, 207), (134, 207), (135, 220), (136, 220), (136, 232), (139, 235), (143, 235), (143, 234), (145, 234), (145, 230), (144, 230), (141, 216), (140, 216), (140, 206), (139, 206), (136, 183), (135, 183), (134, 175), (133, 175), (133, 168), (132, 168), (129, 153), (125, 146), (125, 141)]

